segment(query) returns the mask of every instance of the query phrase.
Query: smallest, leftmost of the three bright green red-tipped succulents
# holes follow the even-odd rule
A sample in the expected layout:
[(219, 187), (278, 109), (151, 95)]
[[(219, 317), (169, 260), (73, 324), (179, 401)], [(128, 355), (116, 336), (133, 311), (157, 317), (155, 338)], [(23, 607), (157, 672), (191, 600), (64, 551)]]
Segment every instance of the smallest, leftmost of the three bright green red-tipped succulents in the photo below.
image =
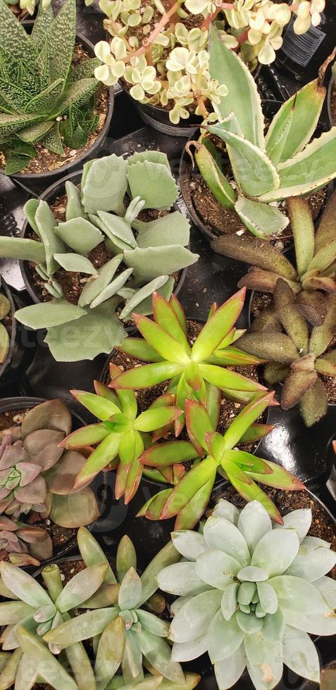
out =
[[(112, 378), (120, 375), (120, 371), (110, 364)], [(96, 446), (75, 478), (76, 489), (87, 486), (101, 470), (116, 468), (116, 497), (125, 496), (125, 503), (129, 503), (142, 478), (144, 468), (138, 458), (151, 444), (149, 432), (156, 432), (155, 438), (160, 438), (182, 415), (182, 410), (174, 407), (175, 396), (167, 394), (137, 415), (137, 398), (133, 391), (117, 391), (116, 394), (98, 381), (94, 382), (94, 388), (96, 394), (71, 393), (101, 421), (77, 429), (63, 439), (60, 446), (66, 449)]]

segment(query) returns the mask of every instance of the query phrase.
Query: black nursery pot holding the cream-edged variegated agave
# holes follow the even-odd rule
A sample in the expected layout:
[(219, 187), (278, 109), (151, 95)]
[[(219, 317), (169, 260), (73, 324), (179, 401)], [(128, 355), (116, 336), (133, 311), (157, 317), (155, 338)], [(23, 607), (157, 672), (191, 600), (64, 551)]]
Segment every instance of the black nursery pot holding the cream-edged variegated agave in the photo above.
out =
[[(262, 101), (262, 107), (263, 107), (263, 115), (265, 118), (270, 118), (273, 117), (276, 113), (278, 113), (279, 108), (282, 106), (281, 101)], [(319, 130), (321, 130), (319, 132)], [(318, 125), (317, 131), (321, 134), (323, 131), (325, 131), (325, 127), (323, 125)], [(190, 137), (190, 139), (198, 139), (199, 132), (197, 132), (196, 136)], [(230, 163), (228, 159), (228, 163)], [(195, 163), (195, 169), (198, 172), (197, 164)], [(186, 148), (183, 149), (182, 151), (182, 156), (180, 158), (180, 170), (179, 170), (179, 184), (180, 184), (180, 190), (182, 194), (182, 199), (185, 202), (185, 206), (187, 207), (187, 213), (189, 215), (189, 218), (192, 220), (194, 225), (198, 228), (199, 232), (203, 235), (203, 237), (208, 241), (212, 242), (213, 239), (216, 239), (216, 237), (221, 237), (222, 234), (224, 233), (216, 233), (213, 231), (212, 228), (206, 227), (204, 224), (204, 221), (202, 220), (201, 216), (199, 215), (197, 208), (195, 208), (193, 200), (192, 200), (192, 193), (190, 190), (190, 182), (192, 180), (191, 174), (192, 174), (192, 161), (187, 153)], [(331, 191), (333, 189), (333, 183), (331, 182), (328, 185), (328, 192), (329, 190)], [(319, 218), (319, 216), (318, 216)], [(318, 218), (316, 220), (318, 220)], [(210, 223), (209, 223), (210, 225)], [(248, 230), (246, 230), (248, 232)], [(279, 237), (281, 239), (281, 236)]]

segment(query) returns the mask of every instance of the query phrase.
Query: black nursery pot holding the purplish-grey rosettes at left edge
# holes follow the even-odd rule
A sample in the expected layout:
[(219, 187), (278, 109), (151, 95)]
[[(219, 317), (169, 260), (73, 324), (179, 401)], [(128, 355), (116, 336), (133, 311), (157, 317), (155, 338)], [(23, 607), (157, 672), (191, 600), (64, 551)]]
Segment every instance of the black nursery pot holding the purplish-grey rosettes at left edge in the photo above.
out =
[[(11, 412), (13, 410), (25, 410), (25, 409), (32, 409), (35, 408), (39, 403), (44, 403), (46, 402), (45, 398), (33, 398), (33, 397), (21, 397), (21, 398), (3, 398), (0, 399), (0, 415), (6, 413), (6, 412)], [(69, 410), (71, 413), (71, 418), (73, 420), (73, 431), (75, 429), (79, 429), (80, 427), (85, 425), (84, 420), (78, 415), (76, 412), (73, 412), (73, 410)], [(103, 473), (99, 473), (97, 477), (94, 479), (94, 481), (91, 484), (92, 491), (94, 492), (98, 506), (99, 506), (99, 513), (102, 515), (104, 511), (106, 510), (106, 497), (107, 497), (107, 491), (106, 491), (106, 475)], [(48, 519), (48, 518), (47, 518)], [(96, 525), (97, 525), (97, 530), (99, 531), (99, 520), (100, 517), (95, 521), (92, 522), (90, 525), (87, 525), (87, 529), (89, 529), (90, 532), (94, 532)], [(52, 556), (51, 559), (45, 560), (43, 563), (49, 563), (54, 558), (61, 558), (61, 556), (64, 556), (66, 553), (69, 553), (70, 551), (73, 550), (75, 545), (77, 544), (77, 539), (76, 539), (76, 534), (77, 534), (77, 528), (60, 528), (60, 529), (70, 529), (71, 532), (75, 532), (75, 534), (70, 534), (69, 539), (66, 541), (66, 543), (60, 544), (59, 546), (54, 545), (54, 555)]]

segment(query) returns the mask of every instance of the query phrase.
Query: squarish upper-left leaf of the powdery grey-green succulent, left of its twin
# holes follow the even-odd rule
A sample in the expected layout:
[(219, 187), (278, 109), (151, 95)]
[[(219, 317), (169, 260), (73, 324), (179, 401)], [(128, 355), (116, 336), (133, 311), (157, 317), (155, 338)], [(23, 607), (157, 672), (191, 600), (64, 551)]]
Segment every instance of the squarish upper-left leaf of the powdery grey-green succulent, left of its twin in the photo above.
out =
[(90, 161), (82, 180), (82, 203), (87, 213), (114, 211), (125, 214), (123, 199), (127, 190), (127, 161), (122, 156), (98, 158)]

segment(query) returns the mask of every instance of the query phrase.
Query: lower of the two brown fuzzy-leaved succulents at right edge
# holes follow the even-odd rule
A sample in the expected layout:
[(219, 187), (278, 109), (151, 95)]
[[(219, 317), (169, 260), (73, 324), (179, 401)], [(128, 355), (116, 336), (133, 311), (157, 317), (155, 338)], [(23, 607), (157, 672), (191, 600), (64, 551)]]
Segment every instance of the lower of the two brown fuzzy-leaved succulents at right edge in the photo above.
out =
[(336, 334), (336, 295), (329, 294), (323, 306), (323, 323), (310, 330), (290, 284), (278, 278), (274, 308), (261, 312), (251, 332), (239, 339), (243, 350), (268, 360), (265, 380), (283, 382), (282, 407), (288, 410), (299, 403), (307, 427), (327, 412), (321, 376), (336, 376), (336, 350), (330, 348)]

